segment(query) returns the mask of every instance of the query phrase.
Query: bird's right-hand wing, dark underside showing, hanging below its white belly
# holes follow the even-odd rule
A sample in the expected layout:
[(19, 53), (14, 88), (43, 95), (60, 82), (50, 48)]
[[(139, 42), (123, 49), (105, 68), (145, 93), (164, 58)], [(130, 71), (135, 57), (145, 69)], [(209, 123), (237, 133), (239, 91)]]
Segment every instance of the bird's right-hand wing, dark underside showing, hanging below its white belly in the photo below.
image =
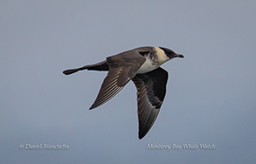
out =
[(157, 68), (152, 72), (137, 74), (133, 79), (137, 88), (139, 139), (153, 126), (166, 92), (168, 72)]

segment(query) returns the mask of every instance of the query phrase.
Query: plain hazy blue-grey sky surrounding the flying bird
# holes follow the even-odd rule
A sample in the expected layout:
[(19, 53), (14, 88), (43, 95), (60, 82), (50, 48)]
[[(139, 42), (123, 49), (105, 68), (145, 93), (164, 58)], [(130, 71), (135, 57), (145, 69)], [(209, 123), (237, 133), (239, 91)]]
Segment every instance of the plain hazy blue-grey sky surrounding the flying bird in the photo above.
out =
[[(0, 163), (255, 163), (255, 8), (1, 0)], [(185, 58), (162, 66), (163, 106), (139, 140), (132, 82), (88, 110), (107, 72), (62, 72), (146, 45)]]

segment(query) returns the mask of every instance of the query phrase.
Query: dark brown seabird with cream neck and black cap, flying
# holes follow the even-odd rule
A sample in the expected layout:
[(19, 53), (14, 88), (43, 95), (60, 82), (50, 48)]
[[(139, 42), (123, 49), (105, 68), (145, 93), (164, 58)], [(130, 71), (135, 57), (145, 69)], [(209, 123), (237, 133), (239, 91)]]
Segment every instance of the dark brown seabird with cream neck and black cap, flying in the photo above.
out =
[(142, 46), (109, 56), (100, 63), (69, 69), (63, 73), (70, 75), (82, 70), (108, 71), (90, 110), (112, 99), (132, 80), (137, 90), (138, 138), (141, 140), (153, 126), (165, 97), (168, 72), (160, 66), (172, 58), (184, 57), (168, 48)]

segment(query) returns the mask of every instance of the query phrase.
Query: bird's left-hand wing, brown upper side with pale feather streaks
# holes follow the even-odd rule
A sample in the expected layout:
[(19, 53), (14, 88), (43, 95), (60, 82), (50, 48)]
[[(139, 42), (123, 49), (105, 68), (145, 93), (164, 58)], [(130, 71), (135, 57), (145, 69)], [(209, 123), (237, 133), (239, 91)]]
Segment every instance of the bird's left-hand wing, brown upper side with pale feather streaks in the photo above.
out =
[(98, 107), (121, 91), (133, 79), (145, 62), (139, 50), (125, 51), (107, 58), (109, 72), (104, 79), (100, 92), (90, 109)]

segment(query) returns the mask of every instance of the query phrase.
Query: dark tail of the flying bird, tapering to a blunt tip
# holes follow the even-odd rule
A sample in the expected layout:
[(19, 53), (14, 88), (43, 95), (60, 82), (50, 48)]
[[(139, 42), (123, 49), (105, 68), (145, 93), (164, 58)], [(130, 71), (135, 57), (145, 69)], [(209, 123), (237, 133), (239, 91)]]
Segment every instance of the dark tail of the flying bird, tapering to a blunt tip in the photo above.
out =
[(70, 69), (70, 70), (65, 70), (63, 73), (66, 75), (70, 75), (74, 72), (78, 72), (81, 70), (95, 70), (95, 71), (108, 71), (108, 65), (107, 65), (107, 61), (102, 61), (100, 63), (94, 64), (94, 65), (85, 65), (82, 66), (80, 68), (75, 68), (75, 69)]

